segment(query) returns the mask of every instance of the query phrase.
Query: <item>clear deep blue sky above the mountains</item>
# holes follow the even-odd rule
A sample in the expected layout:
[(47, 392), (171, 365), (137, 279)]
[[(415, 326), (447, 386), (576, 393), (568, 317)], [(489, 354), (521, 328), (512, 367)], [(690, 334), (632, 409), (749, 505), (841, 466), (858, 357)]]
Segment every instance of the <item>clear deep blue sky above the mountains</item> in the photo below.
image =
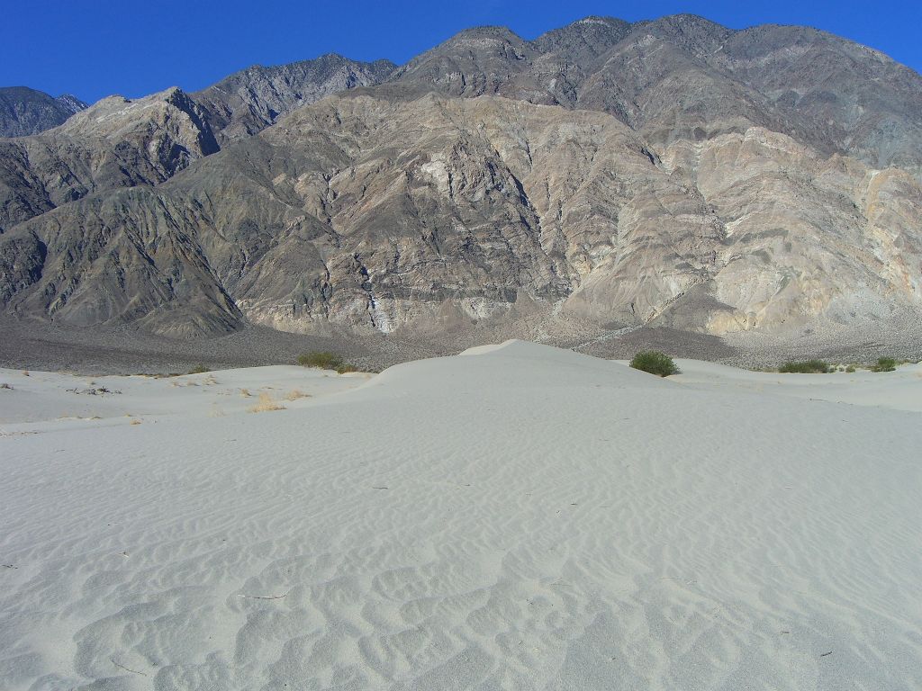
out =
[(357, 60), (413, 55), (472, 26), (533, 39), (587, 15), (636, 21), (688, 12), (733, 29), (804, 24), (845, 36), (922, 71), (922, 0), (0, 0), (0, 86), (94, 101), (171, 86), (204, 88), (251, 64), (341, 53)]

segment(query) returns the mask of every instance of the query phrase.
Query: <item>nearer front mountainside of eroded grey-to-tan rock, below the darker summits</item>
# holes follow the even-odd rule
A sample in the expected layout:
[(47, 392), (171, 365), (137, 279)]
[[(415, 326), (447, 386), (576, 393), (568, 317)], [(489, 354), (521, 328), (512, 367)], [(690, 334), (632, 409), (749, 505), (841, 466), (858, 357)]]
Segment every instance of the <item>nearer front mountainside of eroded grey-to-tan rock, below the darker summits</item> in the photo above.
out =
[(8, 309), (81, 324), (720, 334), (917, 308), (919, 265), (893, 260), (922, 249), (920, 211), (905, 171), (762, 128), (652, 157), (601, 112), (355, 95), (0, 241), (25, 267)]

